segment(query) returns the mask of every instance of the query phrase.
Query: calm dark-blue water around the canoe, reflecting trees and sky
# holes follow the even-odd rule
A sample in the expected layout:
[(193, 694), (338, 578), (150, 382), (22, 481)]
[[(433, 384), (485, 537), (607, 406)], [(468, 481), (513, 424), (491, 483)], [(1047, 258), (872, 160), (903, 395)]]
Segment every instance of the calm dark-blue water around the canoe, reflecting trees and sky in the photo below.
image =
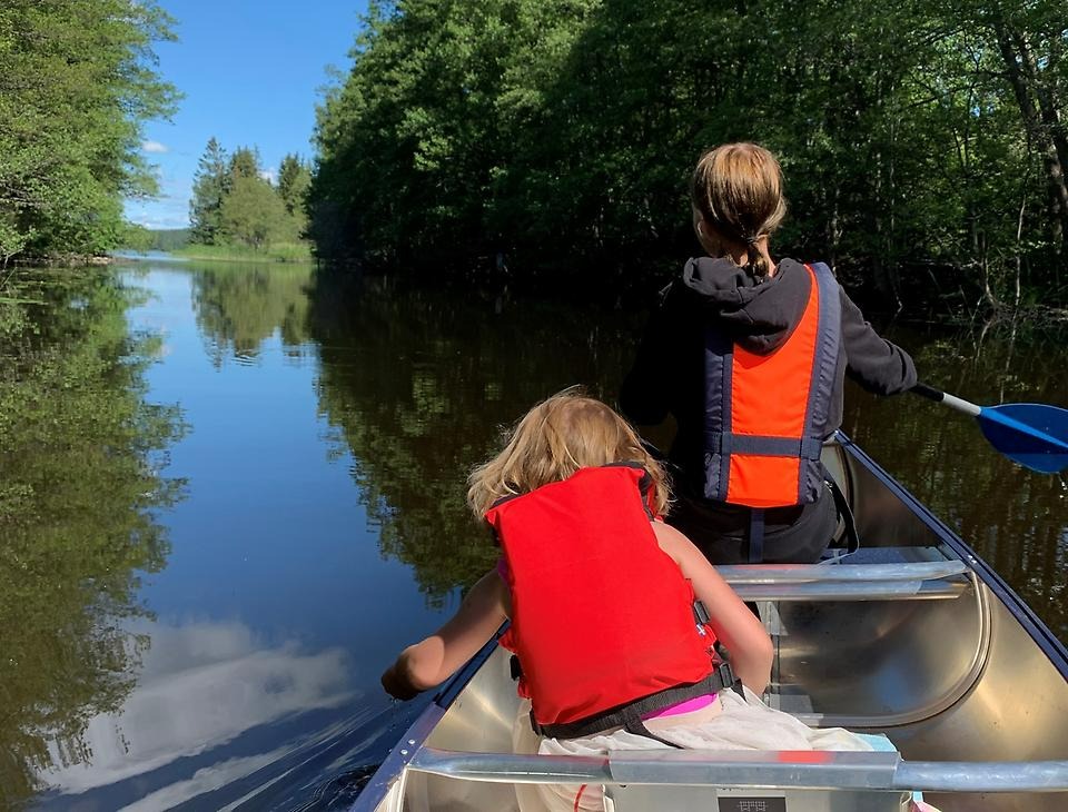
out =
[[(545, 395), (611, 398), (641, 317), (307, 267), (112, 274), (29, 289), (37, 366), (0, 388), (0, 800), (342, 809), (426, 701), (378, 674), (494, 561), (465, 472)], [(1068, 404), (1060, 343), (894, 336), (961, 396)], [(914, 397), (851, 389), (846, 428), (1068, 637), (1060, 477)]]

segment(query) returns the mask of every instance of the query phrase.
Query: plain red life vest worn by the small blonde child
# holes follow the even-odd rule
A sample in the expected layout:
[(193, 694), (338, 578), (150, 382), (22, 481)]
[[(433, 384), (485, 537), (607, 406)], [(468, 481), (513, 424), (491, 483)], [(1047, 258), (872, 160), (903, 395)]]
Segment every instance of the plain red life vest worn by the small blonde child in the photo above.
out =
[(501, 643), (518, 656), (536, 725), (586, 720), (713, 672), (715, 638), (699, 630), (693, 588), (656, 542), (643, 479), (640, 466), (582, 468), (486, 513), (512, 590)]

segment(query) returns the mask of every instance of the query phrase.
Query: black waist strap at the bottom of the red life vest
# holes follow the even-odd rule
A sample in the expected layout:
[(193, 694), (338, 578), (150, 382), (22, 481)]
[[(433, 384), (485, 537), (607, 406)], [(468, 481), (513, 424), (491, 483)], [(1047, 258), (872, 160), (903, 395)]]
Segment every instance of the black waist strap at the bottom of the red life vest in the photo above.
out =
[(692, 700), (696, 696), (719, 693), (724, 689), (732, 689), (736, 691), (740, 696), (745, 695), (742, 691), (741, 680), (734, 675), (731, 664), (726, 661), (720, 662), (712, 673), (710, 673), (703, 680), (664, 689), (663, 691), (657, 691), (649, 696), (643, 696), (640, 700), (627, 702), (624, 705), (610, 707), (606, 711), (595, 713), (584, 719), (575, 720), (574, 722), (541, 724), (534, 717), (534, 712), (531, 711), (531, 726), (538, 735), (547, 736), (550, 739), (581, 739), (584, 736), (592, 736), (596, 735), (597, 733), (603, 733), (612, 727), (623, 727), (631, 733), (655, 739), (656, 741), (663, 742), (664, 744), (670, 744), (671, 746), (676, 746), (671, 744), (671, 742), (650, 733), (645, 729), (642, 716), (646, 713), (653, 713), (664, 707), (669, 707), (670, 705), (678, 705), (680, 702), (685, 702), (686, 700)]

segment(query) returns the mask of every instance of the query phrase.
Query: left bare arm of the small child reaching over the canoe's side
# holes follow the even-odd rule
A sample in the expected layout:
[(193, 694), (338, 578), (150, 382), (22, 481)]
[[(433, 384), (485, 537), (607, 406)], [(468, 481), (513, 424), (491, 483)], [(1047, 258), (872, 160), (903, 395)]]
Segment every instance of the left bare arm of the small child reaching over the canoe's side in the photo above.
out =
[(411, 700), (452, 676), (507, 618), (507, 590), (495, 570), (483, 575), (444, 626), (409, 645), (386, 669), (382, 675), (386, 693)]

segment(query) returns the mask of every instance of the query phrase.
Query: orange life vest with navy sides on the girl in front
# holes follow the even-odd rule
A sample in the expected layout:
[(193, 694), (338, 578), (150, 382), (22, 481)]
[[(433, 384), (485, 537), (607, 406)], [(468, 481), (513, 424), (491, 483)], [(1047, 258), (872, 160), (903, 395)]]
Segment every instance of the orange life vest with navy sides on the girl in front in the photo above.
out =
[(804, 266), (809, 299), (789, 338), (758, 355), (710, 331), (705, 339), (704, 495), (749, 507), (814, 502), (823, 487), (841, 343), (838, 283), (822, 263)]

